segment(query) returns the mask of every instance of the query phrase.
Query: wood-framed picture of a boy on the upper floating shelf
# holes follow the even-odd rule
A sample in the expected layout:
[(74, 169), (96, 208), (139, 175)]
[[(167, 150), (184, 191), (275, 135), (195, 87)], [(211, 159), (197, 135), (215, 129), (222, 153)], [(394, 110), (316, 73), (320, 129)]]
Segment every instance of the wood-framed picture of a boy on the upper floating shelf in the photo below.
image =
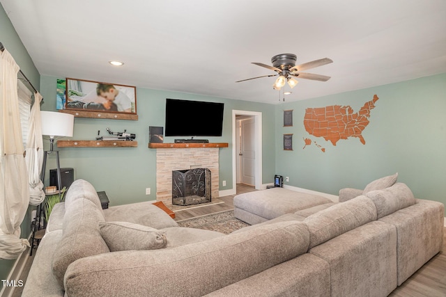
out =
[(77, 111), (136, 114), (136, 87), (67, 78), (64, 107)]

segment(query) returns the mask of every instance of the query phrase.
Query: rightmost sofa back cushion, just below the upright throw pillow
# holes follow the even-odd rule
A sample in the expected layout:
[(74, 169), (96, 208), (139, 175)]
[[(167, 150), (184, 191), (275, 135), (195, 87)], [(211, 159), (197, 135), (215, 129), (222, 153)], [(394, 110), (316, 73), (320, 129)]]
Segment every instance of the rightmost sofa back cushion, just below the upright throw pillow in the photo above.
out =
[(376, 206), (378, 218), (392, 214), (398, 209), (415, 204), (415, 197), (410, 188), (401, 182), (384, 190), (371, 191), (366, 194)]

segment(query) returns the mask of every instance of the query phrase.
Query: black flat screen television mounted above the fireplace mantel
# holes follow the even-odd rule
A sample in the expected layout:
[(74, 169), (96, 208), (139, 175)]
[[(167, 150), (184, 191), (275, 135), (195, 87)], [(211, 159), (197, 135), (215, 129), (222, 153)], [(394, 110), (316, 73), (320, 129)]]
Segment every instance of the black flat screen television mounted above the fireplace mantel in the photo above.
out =
[(223, 103), (166, 99), (165, 136), (222, 136)]

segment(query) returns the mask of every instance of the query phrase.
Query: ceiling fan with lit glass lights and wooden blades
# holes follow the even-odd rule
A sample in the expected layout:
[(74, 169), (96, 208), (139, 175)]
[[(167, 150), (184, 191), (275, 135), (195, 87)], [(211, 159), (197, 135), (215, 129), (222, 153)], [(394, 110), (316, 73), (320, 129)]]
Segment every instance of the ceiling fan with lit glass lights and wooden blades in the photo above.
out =
[[(259, 65), (261, 67), (265, 67), (277, 72), (277, 74), (262, 76), (262, 77), (276, 77), (277, 75), (279, 75), (275, 83), (272, 85), (272, 87), (275, 88), (275, 90), (280, 90), (280, 88), (285, 86), (286, 82), (288, 82), (291, 88), (294, 88), (295, 85), (298, 84), (298, 81), (294, 77), (299, 77), (300, 79), (312, 79), (314, 81), (328, 81), (328, 79), (330, 79), (330, 77), (325, 77), (325, 75), (321, 74), (301, 72), (303, 70), (308, 70), (322, 65), (330, 64), (333, 62), (330, 58), (321, 58), (319, 60), (303, 63), (300, 65), (295, 65), (296, 59), (297, 56), (295, 54), (278, 54), (271, 58), (272, 66), (255, 62), (252, 64)], [(252, 77), (251, 79), (260, 79), (260, 78), (261, 77)], [(251, 79), (243, 79), (241, 81), (249, 81)], [(240, 81), (236, 81), (236, 83), (240, 83)]]

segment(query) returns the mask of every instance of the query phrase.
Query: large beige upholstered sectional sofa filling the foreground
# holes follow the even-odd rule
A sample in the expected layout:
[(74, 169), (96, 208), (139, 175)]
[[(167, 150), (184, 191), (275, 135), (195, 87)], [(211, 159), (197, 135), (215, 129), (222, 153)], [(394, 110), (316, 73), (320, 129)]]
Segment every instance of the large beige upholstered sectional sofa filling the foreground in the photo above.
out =
[(150, 202), (102, 211), (77, 180), (23, 296), (387, 296), (440, 251), (444, 205), (375, 188), (225, 235), (178, 227)]

